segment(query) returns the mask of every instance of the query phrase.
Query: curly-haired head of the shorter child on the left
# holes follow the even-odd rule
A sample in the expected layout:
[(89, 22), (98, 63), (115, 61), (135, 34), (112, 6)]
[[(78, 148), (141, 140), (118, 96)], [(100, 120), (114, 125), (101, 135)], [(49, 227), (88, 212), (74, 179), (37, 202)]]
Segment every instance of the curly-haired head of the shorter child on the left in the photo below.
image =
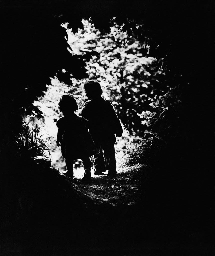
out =
[(58, 103), (59, 111), (63, 112), (64, 115), (67, 113), (73, 113), (78, 109), (78, 105), (72, 94), (62, 95)]

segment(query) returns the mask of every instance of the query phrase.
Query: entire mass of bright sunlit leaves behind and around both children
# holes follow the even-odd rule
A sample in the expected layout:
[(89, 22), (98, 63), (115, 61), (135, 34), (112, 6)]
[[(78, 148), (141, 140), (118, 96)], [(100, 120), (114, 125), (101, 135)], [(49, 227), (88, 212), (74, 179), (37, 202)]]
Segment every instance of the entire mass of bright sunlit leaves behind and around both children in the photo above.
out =
[[(123, 32), (123, 25), (118, 26), (114, 19), (110, 21), (109, 34), (100, 33), (90, 19), (82, 20), (82, 24), (83, 29), (78, 29), (77, 33), (67, 29), (68, 50), (72, 55), (85, 58), (89, 78), (76, 79), (63, 69), (64, 76), (57, 74), (51, 85), (47, 86), (45, 96), (34, 105), (39, 106), (44, 113), (47, 133), (56, 137), (55, 122), (62, 115), (58, 110), (61, 95), (72, 93), (78, 103), (77, 113), (80, 114), (80, 109), (87, 100), (83, 84), (87, 79), (97, 79), (103, 89), (102, 96), (112, 102), (124, 125), (123, 137), (116, 144), (118, 162), (122, 164), (137, 161), (136, 145), (145, 145), (147, 139), (141, 140), (138, 135), (148, 137), (146, 129), (156, 113), (152, 101), (158, 97), (156, 95), (167, 90), (161, 83), (164, 75), (160, 69), (161, 61), (144, 57), (138, 40)], [(67, 27), (67, 24), (62, 27)], [(147, 50), (149, 51), (149, 47)], [(93, 57), (88, 53), (94, 53)], [(144, 112), (148, 116), (143, 115)], [(138, 154), (142, 154), (142, 150)], [(53, 163), (60, 168), (65, 166), (54, 139), (52, 158)]]

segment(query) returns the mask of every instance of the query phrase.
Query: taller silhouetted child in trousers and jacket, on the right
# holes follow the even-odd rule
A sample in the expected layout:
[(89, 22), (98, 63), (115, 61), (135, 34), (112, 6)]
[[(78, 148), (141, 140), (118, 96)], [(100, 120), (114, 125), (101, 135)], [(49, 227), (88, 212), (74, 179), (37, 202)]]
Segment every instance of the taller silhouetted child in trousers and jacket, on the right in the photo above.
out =
[[(102, 89), (98, 81), (89, 80), (84, 84), (89, 100), (85, 102), (81, 115), (88, 120), (89, 132), (98, 149), (94, 155), (95, 174), (108, 170), (109, 176), (116, 175), (114, 144), (116, 136), (122, 136), (122, 126), (109, 100), (101, 97)], [(104, 157), (103, 157), (104, 151)]]

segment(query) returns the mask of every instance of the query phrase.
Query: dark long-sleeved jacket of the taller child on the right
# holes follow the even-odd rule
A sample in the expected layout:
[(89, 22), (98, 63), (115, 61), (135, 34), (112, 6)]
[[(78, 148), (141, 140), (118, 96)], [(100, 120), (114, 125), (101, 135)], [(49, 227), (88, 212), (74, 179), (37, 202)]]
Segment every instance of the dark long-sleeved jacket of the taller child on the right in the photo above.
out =
[(81, 115), (88, 120), (89, 132), (93, 138), (122, 134), (122, 126), (109, 100), (102, 97), (85, 102)]

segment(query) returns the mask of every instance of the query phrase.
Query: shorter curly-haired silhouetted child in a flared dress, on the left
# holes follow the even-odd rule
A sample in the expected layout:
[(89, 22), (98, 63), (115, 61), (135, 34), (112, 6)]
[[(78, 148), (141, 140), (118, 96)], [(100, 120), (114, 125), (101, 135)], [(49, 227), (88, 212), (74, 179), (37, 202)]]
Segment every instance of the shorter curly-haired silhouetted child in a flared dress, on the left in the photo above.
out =
[(71, 94), (63, 95), (58, 105), (64, 117), (57, 121), (57, 146), (61, 146), (66, 161), (66, 176), (73, 177), (73, 161), (81, 159), (85, 170), (83, 179), (89, 179), (91, 177), (89, 157), (95, 153), (96, 148), (86, 127), (87, 121), (74, 114), (78, 105)]

